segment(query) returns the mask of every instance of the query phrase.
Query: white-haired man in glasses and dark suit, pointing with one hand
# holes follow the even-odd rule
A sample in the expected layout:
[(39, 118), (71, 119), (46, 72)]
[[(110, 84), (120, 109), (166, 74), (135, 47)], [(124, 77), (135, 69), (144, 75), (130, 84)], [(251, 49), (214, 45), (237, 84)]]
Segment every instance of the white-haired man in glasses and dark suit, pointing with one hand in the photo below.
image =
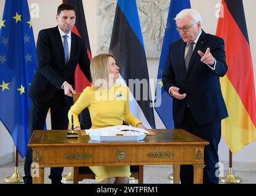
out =
[[(203, 181), (218, 183), (221, 121), (228, 116), (219, 81), (228, 69), (224, 41), (202, 31), (202, 19), (196, 10), (182, 10), (175, 21), (181, 39), (170, 44), (162, 83), (174, 98), (175, 128), (210, 142), (204, 149)], [(193, 183), (192, 165), (181, 165), (180, 180)]]

